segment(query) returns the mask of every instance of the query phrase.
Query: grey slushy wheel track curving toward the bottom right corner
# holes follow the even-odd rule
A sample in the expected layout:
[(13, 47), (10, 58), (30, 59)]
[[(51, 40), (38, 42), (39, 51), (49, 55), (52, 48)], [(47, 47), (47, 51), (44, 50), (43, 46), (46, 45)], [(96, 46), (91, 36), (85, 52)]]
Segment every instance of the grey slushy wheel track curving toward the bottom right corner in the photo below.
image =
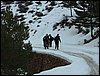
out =
[(65, 51), (62, 51), (64, 53), (67, 53), (69, 55), (72, 55), (72, 56), (77, 56), (77, 57), (81, 57), (83, 58), (87, 64), (89, 65), (91, 71), (90, 71), (90, 75), (99, 75), (99, 65), (97, 65), (93, 59), (85, 54), (82, 54), (82, 53), (73, 53), (73, 52), (65, 52)]

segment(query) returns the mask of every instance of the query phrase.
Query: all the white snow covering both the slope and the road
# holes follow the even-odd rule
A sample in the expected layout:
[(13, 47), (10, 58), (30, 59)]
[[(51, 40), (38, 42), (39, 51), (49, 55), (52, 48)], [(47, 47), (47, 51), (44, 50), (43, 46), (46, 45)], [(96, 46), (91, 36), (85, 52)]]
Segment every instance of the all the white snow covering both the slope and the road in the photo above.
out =
[[(61, 1), (58, 1), (57, 3), (61, 3)], [(34, 1), (33, 4), (35, 4)], [(45, 9), (46, 5), (49, 5), (49, 3), (45, 4), (45, 1), (42, 1), (42, 5), (39, 6), (39, 11)], [(28, 7), (29, 10), (33, 9), (33, 5)], [(14, 4), (12, 4), (12, 11), (14, 14), (17, 13), (17, 9), (18, 6), (14, 7)], [(96, 63), (99, 66), (99, 47), (97, 47), (99, 38), (94, 39), (90, 43), (84, 45), (84, 39), (90, 39), (91, 34), (77, 34), (78, 30), (75, 28), (75, 26), (72, 26), (70, 29), (68, 27), (61, 29), (58, 26), (57, 28), (60, 29), (60, 31), (57, 29), (53, 31), (53, 25), (57, 22), (60, 22), (64, 18), (64, 15), (70, 16), (69, 8), (54, 7), (50, 12), (45, 10), (43, 13), (47, 13), (47, 15), (41, 17), (41, 23), (38, 23), (37, 20), (31, 24), (29, 24), (28, 21), (31, 19), (33, 20), (32, 14), (29, 14), (28, 12), (25, 13), (25, 21), (29, 25), (30, 30), (33, 29), (33, 31), (29, 31), (30, 37), (27, 40), (31, 42), (33, 52), (35, 51), (39, 53), (51, 54), (63, 58), (71, 62), (71, 64), (55, 67), (53, 69), (45, 70), (33, 75), (90, 75), (91, 67), (85, 57), (89, 58), (88, 60), (93, 61), (93, 63)], [(74, 10), (73, 15), (76, 15)], [(37, 25), (40, 25), (40, 27), (37, 27)], [(37, 30), (37, 32), (34, 34), (35, 30)], [(51, 34), (53, 37), (55, 37), (58, 33), (60, 34), (62, 40), (60, 44), (60, 50), (54, 49), (54, 42), (53, 47), (50, 47), (48, 50), (44, 49), (42, 38), (46, 33)]]

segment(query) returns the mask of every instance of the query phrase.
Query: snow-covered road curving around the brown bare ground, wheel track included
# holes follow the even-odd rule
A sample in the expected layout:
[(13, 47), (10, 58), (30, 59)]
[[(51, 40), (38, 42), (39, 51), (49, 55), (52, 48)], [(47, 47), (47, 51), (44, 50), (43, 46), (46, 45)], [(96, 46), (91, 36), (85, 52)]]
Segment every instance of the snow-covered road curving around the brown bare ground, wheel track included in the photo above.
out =
[[(68, 48), (69, 49), (69, 48)], [(71, 48), (70, 48), (71, 49)], [(93, 58), (91, 57), (91, 56), (89, 56), (87, 53), (83, 53), (82, 51), (65, 51), (65, 50), (63, 50), (63, 49), (60, 49), (60, 50), (55, 50), (54, 48), (50, 48), (50, 49), (48, 49), (48, 50), (45, 50), (42, 46), (34, 46), (34, 50), (35, 51), (37, 51), (37, 52), (40, 52), (40, 53), (46, 53), (46, 54), (51, 54), (51, 55), (54, 55), (54, 56), (58, 56), (58, 57), (61, 57), (61, 58), (63, 58), (63, 59), (66, 59), (66, 60), (68, 60), (68, 61), (72, 61), (72, 63), (73, 62), (75, 62), (75, 59), (73, 59), (73, 58), (77, 58), (76, 59), (76, 62), (77, 62), (77, 60), (79, 60), (78, 62), (80, 62), (80, 63), (86, 63), (86, 64), (83, 64), (83, 65), (81, 65), (80, 63), (74, 63), (74, 64), (72, 64), (71, 66), (73, 67), (73, 66), (75, 66), (75, 68), (74, 69), (79, 69), (79, 67), (82, 69), (84, 69), (85, 68), (85, 72), (83, 72), (83, 74), (86, 74), (86, 75), (99, 75), (99, 65), (93, 60)], [(67, 48), (66, 48), (66, 50), (67, 50)], [(64, 55), (65, 54), (65, 55)], [(69, 56), (68, 56), (69, 55)], [(70, 56), (72, 56), (73, 58), (71, 58)], [(79, 58), (79, 59), (78, 59)], [(84, 60), (84, 61), (81, 61), (81, 60)], [(74, 60), (74, 61), (73, 61)], [(80, 66), (78, 66), (78, 65), (80, 65)], [(70, 66), (70, 67), (71, 67)], [(84, 67), (85, 66), (85, 67)], [(86, 66), (88, 66), (88, 69), (86, 69)], [(68, 72), (67, 70), (68, 70), (68, 68), (69, 67), (67, 67), (67, 69), (66, 69), (66, 72), (67, 73), (65, 73), (64, 72), (64, 75), (66, 74), (68, 74), (68, 75), (71, 75), (72, 73), (71, 72)], [(54, 68), (54, 69), (56, 69), (56, 68)], [(54, 70), (54, 69), (51, 69), (51, 70), (46, 70), (46, 71), (43, 71), (43, 72), (41, 72), (41, 73), (38, 73), (38, 74), (35, 74), (35, 75), (59, 75), (59, 73), (57, 73), (56, 74), (56, 72), (57, 72), (57, 70), (58, 69), (60, 69), (60, 68), (58, 68), (57, 67), (57, 69), (56, 70)], [(71, 68), (72, 69), (72, 68)], [(81, 71), (81, 69), (80, 70), (77, 70), (77, 71)], [(69, 69), (70, 70), (70, 69)], [(53, 72), (53, 71), (55, 71), (55, 72)], [(72, 71), (72, 70), (70, 70), (70, 71)], [(76, 70), (73, 70), (73, 71), (75, 71), (76, 72)], [(87, 71), (87, 72), (86, 72)], [(51, 72), (51, 73), (50, 73)], [(63, 73), (63, 72), (62, 72)], [(82, 75), (82, 73), (81, 72), (76, 72), (75, 73), (75, 75)], [(62, 75), (62, 74), (60, 74), (60, 75)], [(72, 74), (72, 75), (74, 75), (74, 73)]]

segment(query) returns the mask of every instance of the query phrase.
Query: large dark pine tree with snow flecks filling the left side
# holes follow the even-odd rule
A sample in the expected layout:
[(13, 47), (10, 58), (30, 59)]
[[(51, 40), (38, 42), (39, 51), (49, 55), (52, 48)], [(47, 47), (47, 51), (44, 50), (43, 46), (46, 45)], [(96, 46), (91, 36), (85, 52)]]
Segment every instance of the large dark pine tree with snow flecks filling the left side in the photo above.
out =
[(29, 38), (29, 27), (19, 22), (9, 10), (7, 7), (1, 11), (1, 69), (13, 74), (17, 68), (27, 70), (32, 47), (30, 43), (24, 43)]

